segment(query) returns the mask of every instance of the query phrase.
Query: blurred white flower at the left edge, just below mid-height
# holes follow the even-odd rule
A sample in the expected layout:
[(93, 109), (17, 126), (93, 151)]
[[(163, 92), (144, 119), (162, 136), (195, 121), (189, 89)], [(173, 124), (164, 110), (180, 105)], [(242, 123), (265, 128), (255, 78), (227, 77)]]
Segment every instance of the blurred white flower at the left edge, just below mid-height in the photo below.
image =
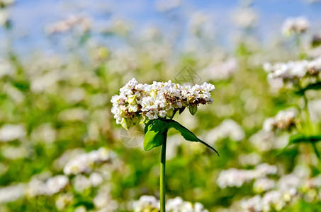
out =
[(26, 136), (26, 128), (22, 124), (4, 124), (0, 128), (0, 142), (22, 139)]

